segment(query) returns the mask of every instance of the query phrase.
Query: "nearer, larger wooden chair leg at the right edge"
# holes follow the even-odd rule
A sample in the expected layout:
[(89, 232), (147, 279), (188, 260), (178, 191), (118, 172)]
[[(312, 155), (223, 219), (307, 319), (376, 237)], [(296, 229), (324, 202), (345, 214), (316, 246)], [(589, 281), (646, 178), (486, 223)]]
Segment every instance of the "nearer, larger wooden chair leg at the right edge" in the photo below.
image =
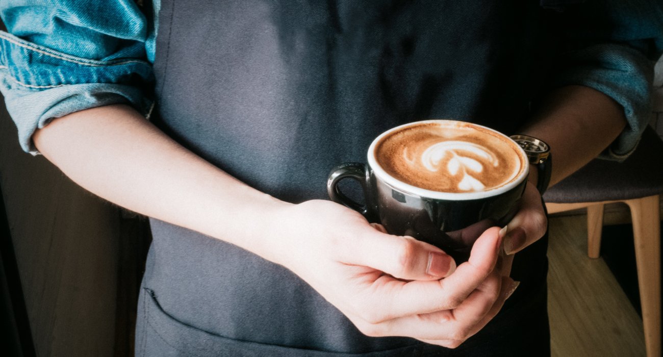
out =
[(661, 356), (660, 203), (649, 196), (626, 203), (631, 208), (638, 268), (642, 324), (647, 356)]

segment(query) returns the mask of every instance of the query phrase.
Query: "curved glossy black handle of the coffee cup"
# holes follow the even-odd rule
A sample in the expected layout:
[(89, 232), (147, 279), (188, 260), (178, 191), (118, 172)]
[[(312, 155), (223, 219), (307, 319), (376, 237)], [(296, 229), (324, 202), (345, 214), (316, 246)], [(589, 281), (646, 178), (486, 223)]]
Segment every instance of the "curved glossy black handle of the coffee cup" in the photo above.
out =
[[(352, 178), (361, 184), (364, 191), (364, 204), (359, 204), (343, 194), (338, 187), (338, 182), (343, 178)], [(375, 214), (371, 207), (371, 170), (368, 165), (363, 163), (344, 163), (331, 170), (330, 176), (327, 179), (327, 193), (333, 202), (343, 204), (348, 208), (363, 214), (369, 221), (372, 220)]]

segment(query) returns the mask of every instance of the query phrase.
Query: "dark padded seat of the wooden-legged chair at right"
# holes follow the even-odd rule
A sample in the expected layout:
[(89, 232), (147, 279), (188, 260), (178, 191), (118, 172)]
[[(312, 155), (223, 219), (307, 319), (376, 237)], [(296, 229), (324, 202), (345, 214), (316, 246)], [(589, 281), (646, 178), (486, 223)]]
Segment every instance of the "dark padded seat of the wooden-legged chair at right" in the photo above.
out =
[[(554, 158), (553, 158), (554, 167)], [(649, 169), (643, 170), (643, 167)], [(622, 163), (595, 159), (544, 194), (551, 203), (630, 200), (663, 193), (663, 142), (651, 128)]]

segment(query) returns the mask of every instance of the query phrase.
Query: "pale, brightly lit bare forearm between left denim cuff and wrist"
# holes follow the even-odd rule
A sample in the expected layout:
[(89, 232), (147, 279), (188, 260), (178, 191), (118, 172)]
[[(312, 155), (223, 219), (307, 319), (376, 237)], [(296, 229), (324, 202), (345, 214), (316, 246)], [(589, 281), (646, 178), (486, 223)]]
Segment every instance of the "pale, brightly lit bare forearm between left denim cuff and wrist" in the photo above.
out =
[(269, 255), (260, 241), (265, 220), (256, 218), (286, 203), (184, 149), (131, 107), (66, 115), (38, 130), (34, 144), (65, 175), (110, 202)]

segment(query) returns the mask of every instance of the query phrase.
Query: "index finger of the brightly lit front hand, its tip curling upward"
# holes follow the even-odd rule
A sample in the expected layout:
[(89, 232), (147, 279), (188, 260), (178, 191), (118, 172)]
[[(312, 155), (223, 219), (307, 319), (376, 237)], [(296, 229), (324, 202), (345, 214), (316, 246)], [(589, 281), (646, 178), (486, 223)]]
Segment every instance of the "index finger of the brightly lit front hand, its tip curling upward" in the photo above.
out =
[[(398, 281), (377, 279), (367, 301), (381, 301), (381, 312), (371, 315), (370, 322), (383, 322), (397, 317), (455, 309), (493, 272), (500, 248), (499, 228), (484, 232), (472, 247), (469, 261), (458, 265), (455, 272), (439, 281)], [(368, 311), (370, 307), (359, 307)], [(358, 312), (361, 315), (361, 312)]]

